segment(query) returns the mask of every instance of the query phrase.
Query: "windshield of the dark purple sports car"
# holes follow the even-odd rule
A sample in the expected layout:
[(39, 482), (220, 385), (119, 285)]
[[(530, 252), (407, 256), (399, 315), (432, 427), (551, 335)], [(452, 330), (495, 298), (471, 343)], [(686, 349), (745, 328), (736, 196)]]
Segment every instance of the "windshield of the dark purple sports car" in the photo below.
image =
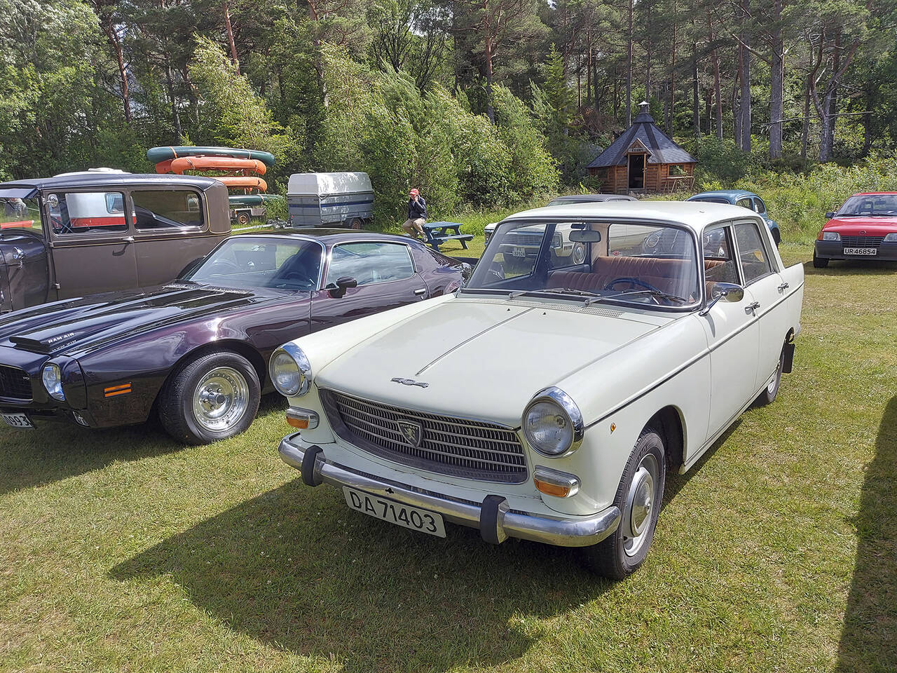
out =
[(323, 251), (315, 240), (241, 236), (225, 240), (180, 280), (225, 287), (317, 290)]

